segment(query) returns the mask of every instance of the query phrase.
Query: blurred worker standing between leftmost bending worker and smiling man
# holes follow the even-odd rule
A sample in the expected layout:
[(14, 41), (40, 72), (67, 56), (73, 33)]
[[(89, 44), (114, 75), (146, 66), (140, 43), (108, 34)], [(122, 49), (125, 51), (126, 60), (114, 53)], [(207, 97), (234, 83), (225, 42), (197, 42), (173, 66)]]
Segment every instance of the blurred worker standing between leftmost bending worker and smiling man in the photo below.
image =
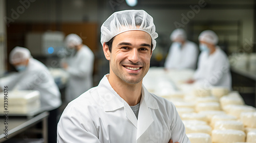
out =
[(70, 76), (66, 90), (66, 102), (70, 102), (93, 87), (94, 54), (76, 34), (69, 34), (65, 44), (69, 50), (73, 50), (67, 63), (62, 63)]

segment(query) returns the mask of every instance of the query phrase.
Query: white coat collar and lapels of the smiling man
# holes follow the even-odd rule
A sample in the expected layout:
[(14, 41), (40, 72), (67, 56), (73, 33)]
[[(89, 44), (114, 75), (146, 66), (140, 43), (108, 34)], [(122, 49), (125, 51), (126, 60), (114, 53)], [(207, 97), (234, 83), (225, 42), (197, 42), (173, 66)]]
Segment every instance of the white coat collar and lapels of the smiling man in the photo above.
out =
[[(138, 120), (127, 102), (125, 102), (111, 87), (106, 75), (101, 79), (98, 85), (99, 100), (105, 111), (114, 111), (124, 107), (125, 116), (138, 129), (137, 139), (147, 130), (147, 128), (154, 122), (151, 116), (150, 109), (158, 109), (156, 99), (146, 90), (142, 85), (142, 96), (140, 100)], [(103, 94), (102, 94), (103, 93)], [(138, 125), (138, 126), (137, 126)]]

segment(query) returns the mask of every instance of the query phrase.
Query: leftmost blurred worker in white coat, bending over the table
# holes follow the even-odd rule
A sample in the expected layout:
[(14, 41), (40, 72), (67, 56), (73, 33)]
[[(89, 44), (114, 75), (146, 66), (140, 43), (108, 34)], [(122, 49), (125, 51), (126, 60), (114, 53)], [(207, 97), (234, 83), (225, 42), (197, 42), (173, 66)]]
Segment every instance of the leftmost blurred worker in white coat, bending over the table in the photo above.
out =
[[(15, 47), (10, 53), (10, 63), (18, 71), (11, 81), (5, 82), (10, 90), (37, 90), (40, 93), (41, 110), (49, 111), (48, 142), (56, 142), (57, 108), (61, 105), (59, 89), (47, 67), (32, 58), (24, 47)], [(1, 86), (3, 87), (3, 86)], [(0, 88), (1, 88), (0, 87)]]

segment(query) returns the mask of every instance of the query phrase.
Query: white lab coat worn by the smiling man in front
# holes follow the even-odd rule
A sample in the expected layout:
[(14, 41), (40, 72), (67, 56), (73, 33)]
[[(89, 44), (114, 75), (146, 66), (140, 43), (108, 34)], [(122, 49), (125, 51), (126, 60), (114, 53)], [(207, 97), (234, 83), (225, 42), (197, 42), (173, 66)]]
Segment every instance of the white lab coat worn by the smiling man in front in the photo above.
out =
[(57, 142), (190, 142), (173, 103), (142, 87), (138, 120), (104, 76), (68, 104), (57, 126)]

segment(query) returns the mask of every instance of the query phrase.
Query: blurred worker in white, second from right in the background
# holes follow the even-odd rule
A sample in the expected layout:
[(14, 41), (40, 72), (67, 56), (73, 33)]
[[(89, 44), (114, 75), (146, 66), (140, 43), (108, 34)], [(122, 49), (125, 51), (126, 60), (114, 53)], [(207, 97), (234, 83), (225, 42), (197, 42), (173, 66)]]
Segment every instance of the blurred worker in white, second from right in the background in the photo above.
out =
[(186, 33), (178, 28), (170, 35), (173, 44), (164, 63), (165, 69), (196, 69), (198, 48), (186, 39)]

